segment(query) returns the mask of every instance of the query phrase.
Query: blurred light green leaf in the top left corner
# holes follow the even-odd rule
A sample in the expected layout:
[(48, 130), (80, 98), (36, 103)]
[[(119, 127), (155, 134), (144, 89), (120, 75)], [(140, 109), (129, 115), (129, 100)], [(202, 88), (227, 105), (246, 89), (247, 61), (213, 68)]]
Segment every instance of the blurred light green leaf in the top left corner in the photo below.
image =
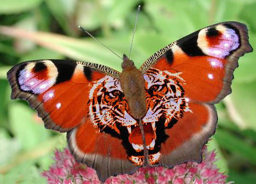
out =
[(15, 14), (37, 7), (43, 0), (0, 0), (1, 14)]

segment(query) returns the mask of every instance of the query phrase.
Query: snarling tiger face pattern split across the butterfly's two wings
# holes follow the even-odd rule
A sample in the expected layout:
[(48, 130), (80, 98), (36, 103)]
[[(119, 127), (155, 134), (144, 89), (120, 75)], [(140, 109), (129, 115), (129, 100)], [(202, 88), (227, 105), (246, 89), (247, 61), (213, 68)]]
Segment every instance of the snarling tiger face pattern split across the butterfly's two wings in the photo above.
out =
[[(179, 75), (154, 68), (144, 74), (148, 109), (142, 124), (152, 165), (159, 163), (161, 143), (168, 138), (165, 129), (171, 128), (185, 112), (190, 111), (181, 86), (185, 81)], [(142, 165), (144, 148), (139, 120), (130, 115), (119, 80), (106, 76), (94, 82), (89, 92), (88, 107), (95, 130), (121, 139), (128, 159)]]

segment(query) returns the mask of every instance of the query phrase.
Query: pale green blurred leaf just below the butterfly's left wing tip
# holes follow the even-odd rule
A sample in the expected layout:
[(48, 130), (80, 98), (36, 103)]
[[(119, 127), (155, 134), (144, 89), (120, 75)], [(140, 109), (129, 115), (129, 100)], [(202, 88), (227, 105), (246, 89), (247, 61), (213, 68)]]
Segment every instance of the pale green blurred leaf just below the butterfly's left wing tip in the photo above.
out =
[(29, 107), (13, 102), (9, 104), (8, 109), (12, 132), (24, 150), (33, 148), (49, 137), (50, 132), (45, 129), (43, 123), (39, 124), (33, 120), (36, 113)]

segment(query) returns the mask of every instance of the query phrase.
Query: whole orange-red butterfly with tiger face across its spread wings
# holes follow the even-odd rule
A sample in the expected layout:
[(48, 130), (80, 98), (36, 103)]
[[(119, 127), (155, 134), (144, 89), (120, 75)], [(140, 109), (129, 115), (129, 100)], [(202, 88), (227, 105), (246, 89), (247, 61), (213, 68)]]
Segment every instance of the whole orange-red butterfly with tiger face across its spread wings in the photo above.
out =
[(248, 29), (228, 21), (163, 47), (137, 69), (97, 63), (35, 60), (7, 73), (12, 99), (23, 99), (48, 129), (67, 133), (79, 163), (99, 179), (143, 166), (201, 161), (216, 131), (214, 104), (231, 93), (238, 59), (251, 52)]

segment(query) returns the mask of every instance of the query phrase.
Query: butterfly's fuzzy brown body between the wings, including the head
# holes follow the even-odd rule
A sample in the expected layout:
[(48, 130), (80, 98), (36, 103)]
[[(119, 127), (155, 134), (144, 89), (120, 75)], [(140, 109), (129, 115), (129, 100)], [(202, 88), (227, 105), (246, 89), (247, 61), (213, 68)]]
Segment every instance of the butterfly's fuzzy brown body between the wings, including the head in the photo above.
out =
[(142, 72), (134, 66), (134, 63), (126, 55), (124, 55), (122, 69), (120, 74), (122, 91), (127, 99), (131, 115), (136, 119), (140, 119), (147, 112), (145, 80)]

